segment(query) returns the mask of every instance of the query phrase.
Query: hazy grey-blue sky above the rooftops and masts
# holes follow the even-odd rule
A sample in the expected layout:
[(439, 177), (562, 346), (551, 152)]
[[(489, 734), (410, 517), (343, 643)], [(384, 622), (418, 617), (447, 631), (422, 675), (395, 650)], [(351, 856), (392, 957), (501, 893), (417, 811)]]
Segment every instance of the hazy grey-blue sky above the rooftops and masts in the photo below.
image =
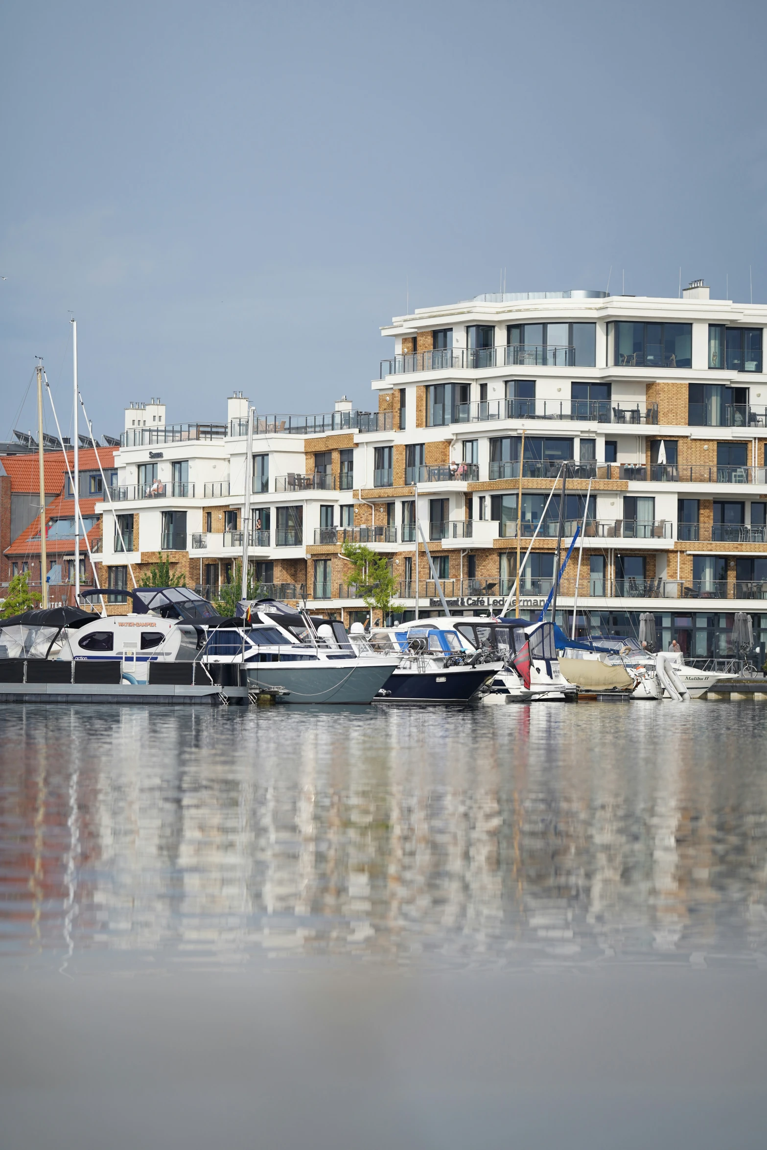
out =
[(152, 396), (175, 423), (235, 390), (375, 409), (379, 328), (503, 268), (767, 302), (766, 25), (738, 0), (8, 0), (0, 439), (34, 427), (36, 355), (67, 434), (72, 314), (100, 435)]

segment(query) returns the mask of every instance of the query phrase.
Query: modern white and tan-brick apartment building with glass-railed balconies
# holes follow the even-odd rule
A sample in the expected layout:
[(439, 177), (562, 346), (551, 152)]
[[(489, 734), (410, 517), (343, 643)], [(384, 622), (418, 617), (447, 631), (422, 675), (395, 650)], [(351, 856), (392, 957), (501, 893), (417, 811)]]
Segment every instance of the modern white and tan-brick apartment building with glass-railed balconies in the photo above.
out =
[[(563, 469), (567, 542), (585, 515), (563, 623), (580, 558), (581, 634), (635, 632), (652, 612), (664, 644), (723, 654), (747, 611), (764, 652), (765, 325), (766, 307), (711, 299), (703, 282), (680, 299), (506, 293), (397, 316), (371, 412), (342, 400), (325, 415), (261, 414), (258, 399), (251, 561), (271, 593), (348, 622), (367, 611), (340, 552), (366, 542), (391, 560), (398, 613), (416, 593), (422, 614), (440, 611), (420, 521), (448, 604), (486, 612), (514, 584), (517, 530), (524, 553), (539, 528), (521, 583), (532, 616), (552, 586)], [(116, 600), (129, 565), (162, 555), (212, 593), (228, 577), (247, 404), (232, 397), (221, 424), (166, 425), (159, 401), (126, 411), (101, 508)]]

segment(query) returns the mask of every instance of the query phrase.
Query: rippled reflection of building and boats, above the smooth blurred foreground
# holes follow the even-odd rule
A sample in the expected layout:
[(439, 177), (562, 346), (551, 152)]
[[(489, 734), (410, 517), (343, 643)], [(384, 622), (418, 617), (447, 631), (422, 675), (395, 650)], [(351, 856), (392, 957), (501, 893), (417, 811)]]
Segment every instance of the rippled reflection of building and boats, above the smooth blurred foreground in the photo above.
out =
[(0, 711), (0, 953), (515, 964), (767, 946), (747, 704)]

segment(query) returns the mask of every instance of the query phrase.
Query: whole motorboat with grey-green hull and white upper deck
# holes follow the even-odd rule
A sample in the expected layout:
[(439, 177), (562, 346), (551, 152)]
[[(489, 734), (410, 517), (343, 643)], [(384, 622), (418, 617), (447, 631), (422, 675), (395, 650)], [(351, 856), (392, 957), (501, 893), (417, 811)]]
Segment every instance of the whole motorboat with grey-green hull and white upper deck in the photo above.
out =
[(248, 687), (283, 688), (281, 703), (369, 704), (399, 665), (392, 653), (358, 651), (340, 621), (281, 600), (241, 601), (237, 611), (209, 627), (198, 658), (244, 664)]

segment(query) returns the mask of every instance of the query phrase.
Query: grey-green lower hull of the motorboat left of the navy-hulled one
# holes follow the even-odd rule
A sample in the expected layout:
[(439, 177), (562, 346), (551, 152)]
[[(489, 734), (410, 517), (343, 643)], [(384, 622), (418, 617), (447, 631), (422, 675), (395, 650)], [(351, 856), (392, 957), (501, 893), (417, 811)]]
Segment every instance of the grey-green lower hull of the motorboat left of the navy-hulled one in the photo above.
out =
[[(351, 661), (351, 660), (350, 660)], [(367, 704), (391, 677), (391, 664), (324, 662), (300, 667), (289, 662), (248, 664), (248, 687), (284, 687), (281, 704)]]

